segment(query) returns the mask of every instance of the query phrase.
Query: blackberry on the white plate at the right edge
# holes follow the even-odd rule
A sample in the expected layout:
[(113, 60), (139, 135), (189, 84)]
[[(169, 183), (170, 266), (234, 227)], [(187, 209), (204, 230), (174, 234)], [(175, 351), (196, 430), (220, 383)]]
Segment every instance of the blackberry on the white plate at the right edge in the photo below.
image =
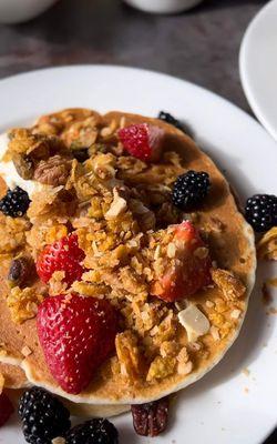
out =
[(277, 225), (277, 196), (255, 194), (247, 199), (245, 219), (257, 232), (267, 231)]

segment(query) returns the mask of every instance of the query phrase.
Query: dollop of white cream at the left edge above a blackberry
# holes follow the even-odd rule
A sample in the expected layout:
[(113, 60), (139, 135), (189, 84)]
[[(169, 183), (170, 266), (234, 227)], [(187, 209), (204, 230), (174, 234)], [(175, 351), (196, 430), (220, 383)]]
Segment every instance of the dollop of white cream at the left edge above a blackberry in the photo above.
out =
[(8, 150), (9, 138), (7, 133), (0, 134), (0, 175), (3, 178), (9, 189), (16, 186), (25, 190), (31, 198), (35, 191), (40, 191), (43, 186), (41, 183), (33, 180), (25, 180), (19, 175), (12, 161), (4, 162), (2, 159)]

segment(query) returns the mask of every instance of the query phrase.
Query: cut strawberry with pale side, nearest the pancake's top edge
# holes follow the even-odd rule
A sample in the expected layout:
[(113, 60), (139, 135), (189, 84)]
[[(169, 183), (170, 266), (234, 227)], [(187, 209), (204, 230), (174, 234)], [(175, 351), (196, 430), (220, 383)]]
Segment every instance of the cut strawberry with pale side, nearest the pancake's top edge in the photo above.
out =
[(133, 124), (119, 130), (124, 149), (144, 162), (157, 160), (162, 149), (164, 131), (148, 123)]

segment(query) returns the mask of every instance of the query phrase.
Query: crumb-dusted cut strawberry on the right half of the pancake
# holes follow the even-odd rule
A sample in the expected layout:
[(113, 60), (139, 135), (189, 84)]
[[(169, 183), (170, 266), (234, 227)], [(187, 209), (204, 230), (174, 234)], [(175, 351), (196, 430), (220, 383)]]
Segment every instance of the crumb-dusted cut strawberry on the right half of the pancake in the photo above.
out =
[(211, 282), (208, 251), (191, 222), (175, 225), (173, 243), (178, 261), (170, 264), (166, 273), (152, 287), (152, 294), (166, 302), (187, 297)]

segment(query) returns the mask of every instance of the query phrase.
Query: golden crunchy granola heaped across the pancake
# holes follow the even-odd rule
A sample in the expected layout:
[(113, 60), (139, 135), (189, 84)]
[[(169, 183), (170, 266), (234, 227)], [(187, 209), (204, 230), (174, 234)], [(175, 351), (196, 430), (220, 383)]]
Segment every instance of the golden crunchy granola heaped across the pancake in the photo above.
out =
[[(152, 383), (174, 372), (189, 374), (197, 356), (208, 357), (211, 341), (235, 329), (246, 289), (234, 274), (213, 271), (222, 297), (201, 306), (211, 329), (195, 342), (188, 342), (179, 324), (178, 305), (152, 297), (157, 276), (178, 261), (170, 225), (184, 214), (172, 204), (171, 189), (185, 167), (170, 150), (157, 163), (125, 155), (116, 137), (124, 124), (124, 118), (107, 124), (92, 111), (65, 110), (41, 118), (32, 129), (12, 130), (7, 159), (40, 186), (27, 216), (1, 216), (0, 248), (13, 255), (28, 251), (35, 261), (47, 244), (74, 232), (85, 253), (82, 280), (66, 287), (64, 273), (55, 272), (48, 294), (107, 299), (121, 313), (122, 330), (112, 371)], [(224, 230), (220, 221), (211, 223)], [(196, 254), (205, 256), (207, 249)], [(35, 316), (44, 294), (35, 284), (11, 289), (7, 302), (14, 322)]]

